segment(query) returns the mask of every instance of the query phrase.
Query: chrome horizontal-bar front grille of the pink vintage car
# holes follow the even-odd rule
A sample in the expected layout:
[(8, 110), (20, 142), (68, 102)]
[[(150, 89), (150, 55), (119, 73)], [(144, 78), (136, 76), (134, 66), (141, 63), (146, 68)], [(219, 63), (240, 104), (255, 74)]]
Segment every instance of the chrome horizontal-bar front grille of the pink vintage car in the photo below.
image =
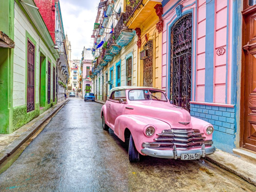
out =
[(202, 144), (211, 146), (212, 140), (205, 141), (203, 133), (198, 129), (170, 129), (157, 133), (154, 142), (142, 143), (143, 148), (151, 149), (173, 149), (174, 146), (178, 150), (188, 150), (192, 148), (200, 148)]

